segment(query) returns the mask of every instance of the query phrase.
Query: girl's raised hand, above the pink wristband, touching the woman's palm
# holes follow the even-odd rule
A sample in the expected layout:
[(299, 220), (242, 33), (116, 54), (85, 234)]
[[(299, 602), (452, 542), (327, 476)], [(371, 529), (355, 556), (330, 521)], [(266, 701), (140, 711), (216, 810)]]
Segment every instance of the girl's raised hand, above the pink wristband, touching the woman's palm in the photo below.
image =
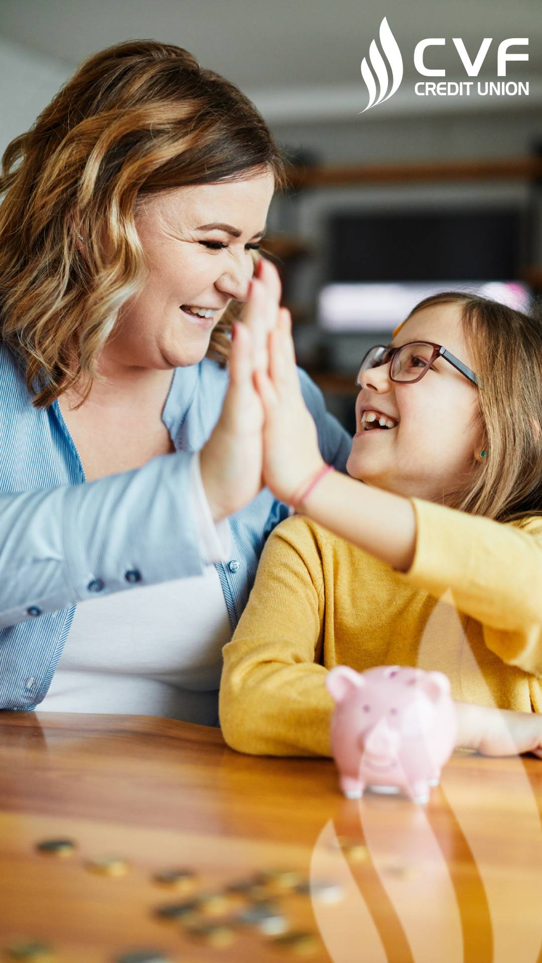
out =
[[(257, 281), (254, 282), (257, 285)], [(254, 379), (264, 410), (263, 481), (276, 498), (292, 496), (323, 467), (316, 426), (304, 401), (295, 364), (291, 318), (286, 308), (268, 335), (268, 370)]]

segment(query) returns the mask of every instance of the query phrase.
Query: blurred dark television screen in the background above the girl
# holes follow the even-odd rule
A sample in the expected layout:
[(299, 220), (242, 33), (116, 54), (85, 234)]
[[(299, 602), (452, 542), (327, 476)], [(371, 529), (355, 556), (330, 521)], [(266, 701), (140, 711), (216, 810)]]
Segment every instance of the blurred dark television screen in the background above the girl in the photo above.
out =
[(517, 208), (335, 214), (330, 281), (510, 280), (521, 263)]

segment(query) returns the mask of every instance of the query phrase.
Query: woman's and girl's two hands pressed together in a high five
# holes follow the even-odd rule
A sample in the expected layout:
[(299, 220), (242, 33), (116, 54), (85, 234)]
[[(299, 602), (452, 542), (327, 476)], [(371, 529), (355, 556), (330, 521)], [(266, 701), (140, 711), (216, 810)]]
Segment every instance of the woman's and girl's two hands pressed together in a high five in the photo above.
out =
[(280, 306), (279, 274), (261, 259), (243, 323), (233, 327), (230, 385), (200, 454), (215, 521), (238, 511), (264, 485), (288, 503), (324, 462), (295, 364), (291, 317)]

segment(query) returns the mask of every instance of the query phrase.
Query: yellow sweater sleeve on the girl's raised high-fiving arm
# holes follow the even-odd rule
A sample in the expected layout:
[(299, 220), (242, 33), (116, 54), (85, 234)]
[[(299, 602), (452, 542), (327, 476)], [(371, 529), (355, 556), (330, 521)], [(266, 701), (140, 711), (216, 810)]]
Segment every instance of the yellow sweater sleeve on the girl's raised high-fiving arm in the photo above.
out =
[(408, 572), (397, 573), (477, 619), (502, 662), (542, 676), (542, 519), (496, 522), (411, 499), (417, 542)]

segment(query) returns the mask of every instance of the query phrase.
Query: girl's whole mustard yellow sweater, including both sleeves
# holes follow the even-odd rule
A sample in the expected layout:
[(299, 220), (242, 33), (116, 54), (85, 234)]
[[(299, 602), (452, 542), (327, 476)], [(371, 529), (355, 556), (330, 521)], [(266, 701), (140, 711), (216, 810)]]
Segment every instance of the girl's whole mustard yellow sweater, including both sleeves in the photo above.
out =
[(324, 680), (339, 664), (440, 669), (456, 700), (542, 711), (542, 518), (503, 524), (412, 504), (406, 573), (301, 516), (271, 534), (224, 649), (232, 748), (330, 755)]

